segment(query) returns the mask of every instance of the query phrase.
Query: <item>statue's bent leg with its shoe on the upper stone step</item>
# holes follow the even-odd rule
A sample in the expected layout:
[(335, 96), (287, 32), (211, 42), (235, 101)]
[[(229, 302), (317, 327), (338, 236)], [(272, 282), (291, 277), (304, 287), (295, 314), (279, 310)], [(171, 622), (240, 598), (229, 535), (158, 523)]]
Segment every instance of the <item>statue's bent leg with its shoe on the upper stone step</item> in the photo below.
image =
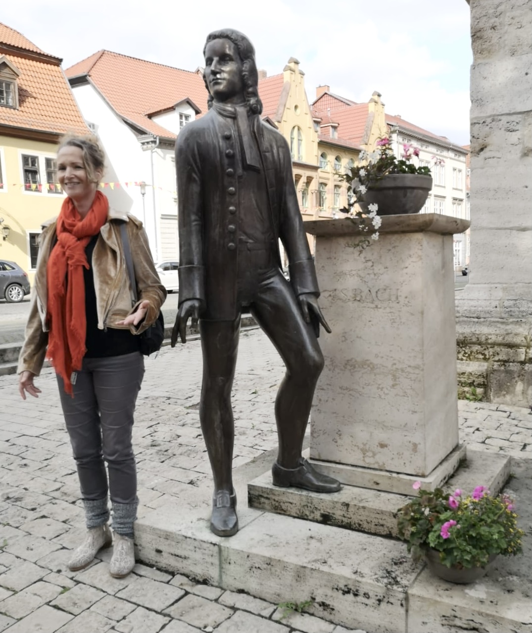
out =
[(323, 354), (313, 327), (305, 323), (281, 271), (261, 284), (251, 312), (286, 365), (275, 399), (279, 455), (273, 469), (274, 484), (336, 492), (340, 489), (336, 479), (318, 473), (301, 458), (312, 398), (323, 369)]

